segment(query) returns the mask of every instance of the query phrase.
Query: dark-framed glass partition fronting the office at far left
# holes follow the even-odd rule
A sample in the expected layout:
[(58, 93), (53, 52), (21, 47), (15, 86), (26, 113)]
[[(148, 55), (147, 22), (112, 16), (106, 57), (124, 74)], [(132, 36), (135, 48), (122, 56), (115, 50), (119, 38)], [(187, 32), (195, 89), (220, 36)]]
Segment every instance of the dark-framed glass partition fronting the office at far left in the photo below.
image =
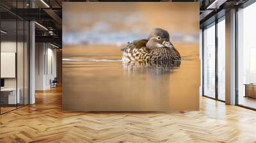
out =
[[(10, 5), (9, 2), (0, 4)], [(27, 6), (25, 1), (18, 3), (12, 1), (11, 7)], [(3, 114), (29, 104), (29, 22), (0, 8), (0, 30), (0, 114)]]

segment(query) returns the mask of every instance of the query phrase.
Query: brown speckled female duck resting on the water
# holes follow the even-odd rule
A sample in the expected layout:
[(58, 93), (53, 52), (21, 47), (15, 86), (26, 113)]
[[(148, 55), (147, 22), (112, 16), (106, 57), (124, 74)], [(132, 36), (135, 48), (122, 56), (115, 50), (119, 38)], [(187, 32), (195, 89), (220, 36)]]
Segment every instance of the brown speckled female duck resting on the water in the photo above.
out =
[(123, 61), (180, 60), (179, 52), (170, 42), (167, 31), (155, 28), (147, 39), (135, 40), (122, 49)]

